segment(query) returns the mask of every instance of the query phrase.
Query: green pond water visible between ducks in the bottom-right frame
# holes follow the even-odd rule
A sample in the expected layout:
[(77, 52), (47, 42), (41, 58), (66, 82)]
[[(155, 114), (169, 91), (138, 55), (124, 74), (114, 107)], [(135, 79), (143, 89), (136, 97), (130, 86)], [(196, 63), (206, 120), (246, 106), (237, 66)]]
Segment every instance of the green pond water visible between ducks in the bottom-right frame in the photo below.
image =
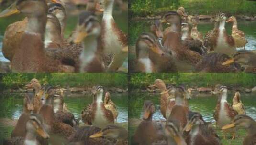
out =
[[(153, 114), (153, 120), (165, 120), (160, 112), (160, 94), (154, 93), (131, 93), (131, 98), (129, 100), (129, 119), (141, 119), (143, 116), (143, 104), (145, 100), (151, 100), (156, 107), (156, 111)], [(228, 102), (232, 104), (232, 99), (234, 97), (234, 93), (228, 94)], [(207, 122), (215, 123), (213, 118), (213, 113), (215, 110), (215, 106), (217, 104), (218, 96), (216, 95), (203, 95), (194, 97), (189, 100), (189, 109), (195, 112), (200, 112), (202, 114), (203, 119)], [(246, 114), (256, 120), (256, 94), (255, 93), (241, 93), (241, 100), (245, 106)], [(136, 127), (132, 124), (129, 125), (129, 140), (131, 141), (132, 136)], [(221, 136), (221, 132), (217, 130), (219, 136)], [(244, 136), (245, 131), (239, 130), (238, 135)], [(243, 138), (242, 138), (243, 140)], [(237, 140), (232, 141), (234, 145), (241, 145), (242, 144), (241, 138), (237, 138)], [(223, 141), (223, 145), (233, 145), (227, 144), (226, 141)]]

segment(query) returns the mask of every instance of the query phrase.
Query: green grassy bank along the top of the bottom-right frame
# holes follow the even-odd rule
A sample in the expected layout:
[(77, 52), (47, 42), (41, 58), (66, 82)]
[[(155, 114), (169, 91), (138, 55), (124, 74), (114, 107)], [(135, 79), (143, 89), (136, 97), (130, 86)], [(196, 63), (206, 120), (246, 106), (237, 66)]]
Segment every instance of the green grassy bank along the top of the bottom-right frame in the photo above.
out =
[(166, 84), (198, 87), (211, 87), (216, 84), (234, 87), (256, 85), (256, 74), (250, 73), (134, 73), (131, 75), (129, 89), (146, 88), (156, 79), (162, 79)]

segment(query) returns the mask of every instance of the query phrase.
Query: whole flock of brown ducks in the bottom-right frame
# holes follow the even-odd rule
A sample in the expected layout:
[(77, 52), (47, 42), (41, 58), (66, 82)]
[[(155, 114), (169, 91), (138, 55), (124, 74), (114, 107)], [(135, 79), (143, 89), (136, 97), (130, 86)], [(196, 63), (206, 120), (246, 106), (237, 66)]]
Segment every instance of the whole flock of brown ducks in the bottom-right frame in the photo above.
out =
[[(221, 139), (211, 125), (204, 121), (199, 112), (189, 110), (189, 93), (183, 86), (166, 87), (164, 81), (156, 79), (151, 88), (160, 90), (160, 111), (164, 121), (154, 121), (153, 102), (144, 103), (143, 120), (133, 137), (133, 145), (221, 145)], [(256, 122), (245, 114), (245, 107), (236, 92), (233, 105), (227, 102), (228, 89), (218, 85), (214, 90), (219, 95), (213, 117), (216, 126), (226, 133), (232, 133), (232, 139), (238, 129), (245, 129), (247, 135), (243, 145), (256, 145)]]

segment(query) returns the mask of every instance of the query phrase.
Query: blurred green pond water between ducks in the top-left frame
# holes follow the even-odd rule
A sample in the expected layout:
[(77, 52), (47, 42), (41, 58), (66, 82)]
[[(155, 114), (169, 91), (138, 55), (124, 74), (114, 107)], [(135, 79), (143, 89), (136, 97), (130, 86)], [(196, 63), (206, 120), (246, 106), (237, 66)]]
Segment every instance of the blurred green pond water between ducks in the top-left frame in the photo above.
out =
[[(128, 12), (117, 12), (114, 11), (113, 17), (118, 25), (118, 27), (125, 33), (128, 33)], [(15, 21), (21, 21), (23, 20), (23, 16), (15, 15), (8, 18), (1, 18), (0, 19), (0, 61), (9, 62), (9, 60), (5, 59), (2, 54), (2, 41), (3, 41), (3, 35), (6, 27), (15, 22)], [(101, 17), (99, 17), (99, 20), (101, 20)], [(75, 29), (78, 22), (78, 16), (68, 16), (66, 21), (66, 27), (65, 27), (65, 38), (68, 38), (71, 32)], [(124, 68), (128, 68), (128, 59), (123, 63)]]

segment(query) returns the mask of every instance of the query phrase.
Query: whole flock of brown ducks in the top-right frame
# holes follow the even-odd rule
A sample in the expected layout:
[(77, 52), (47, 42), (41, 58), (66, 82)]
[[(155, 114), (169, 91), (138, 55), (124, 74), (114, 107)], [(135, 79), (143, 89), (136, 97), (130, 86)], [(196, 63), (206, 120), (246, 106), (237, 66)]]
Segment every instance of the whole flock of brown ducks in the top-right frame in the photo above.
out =
[[(245, 48), (247, 40), (234, 16), (226, 20), (220, 13), (205, 37), (196, 19), (180, 7), (153, 21), (151, 32), (137, 40), (134, 72), (256, 72), (256, 54), (237, 50)], [(232, 35), (226, 32), (226, 22), (232, 23)], [(162, 23), (170, 26), (163, 31)]]

